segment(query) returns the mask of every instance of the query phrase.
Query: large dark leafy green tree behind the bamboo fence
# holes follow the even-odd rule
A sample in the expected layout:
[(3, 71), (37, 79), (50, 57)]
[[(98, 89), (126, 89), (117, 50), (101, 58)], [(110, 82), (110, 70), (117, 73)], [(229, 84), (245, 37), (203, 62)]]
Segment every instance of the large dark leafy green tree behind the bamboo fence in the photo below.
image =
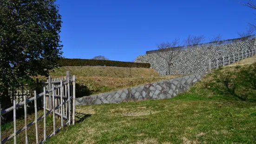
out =
[(55, 0), (0, 0), (0, 96), (33, 76), (47, 76), (62, 58), (61, 15)]

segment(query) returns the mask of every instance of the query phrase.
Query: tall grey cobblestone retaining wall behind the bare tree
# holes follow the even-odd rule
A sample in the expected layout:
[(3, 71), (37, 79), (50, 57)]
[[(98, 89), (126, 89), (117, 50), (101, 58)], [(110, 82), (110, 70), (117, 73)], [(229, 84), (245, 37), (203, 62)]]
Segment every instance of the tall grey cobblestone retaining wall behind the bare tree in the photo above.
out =
[[(193, 74), (204, 72), (208, 69), (208, 59), (228, 56), (247, 51), (256, 47), (256, 38), (219, 46), (203, 46), (197, 48), (184, 49), (171, 62), (171, 74)], [(150, 53), (140, 55), (135, 62), (150, 63), (160, 75), (168, 73), (168, 63), (159, 54), (167, 57), (166, 52)]]

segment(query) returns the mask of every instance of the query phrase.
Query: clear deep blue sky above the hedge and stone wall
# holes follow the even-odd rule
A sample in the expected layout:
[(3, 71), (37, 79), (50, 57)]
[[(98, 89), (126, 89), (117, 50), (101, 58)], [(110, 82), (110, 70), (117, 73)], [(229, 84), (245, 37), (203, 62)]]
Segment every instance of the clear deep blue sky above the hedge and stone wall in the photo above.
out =
[(256, 10), (248, 0), (57, 0), (65, 58), (132, 61), (156, 43), (189, 34), (238, 38)]

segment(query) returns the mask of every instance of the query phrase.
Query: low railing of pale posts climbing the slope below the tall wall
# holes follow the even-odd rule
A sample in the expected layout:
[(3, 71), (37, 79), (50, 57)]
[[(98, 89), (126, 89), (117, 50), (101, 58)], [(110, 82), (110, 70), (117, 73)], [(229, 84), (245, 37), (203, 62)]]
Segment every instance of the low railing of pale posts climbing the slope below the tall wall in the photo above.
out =
[(245, 52), (240, 52), (237, 54), (228, 55), (226, 57), (219, 57), (216, 59), (209, 59), (208, 61), (208, 71), (212, 69), (217, 69), (219, 66), (230, 65), (231, 63), (235, 63), (241, 59), (246, 59), (247, 57), (251, 57), (256, 54), (256, 48), (249, 49)]

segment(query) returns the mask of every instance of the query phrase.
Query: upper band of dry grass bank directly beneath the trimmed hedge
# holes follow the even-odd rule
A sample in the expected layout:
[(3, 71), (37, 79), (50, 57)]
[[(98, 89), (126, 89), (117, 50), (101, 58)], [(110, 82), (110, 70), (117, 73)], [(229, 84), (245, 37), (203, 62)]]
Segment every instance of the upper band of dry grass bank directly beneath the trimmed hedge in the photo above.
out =
[(148, 78), (159, 77), (159, 74), (151, 68), (128, 68), (108, 66), (63, 66), (55, 69), (50, 75), (66, 76), (66, 71), (72, 75), (81, 77), (108, 77), (108, 78)]

